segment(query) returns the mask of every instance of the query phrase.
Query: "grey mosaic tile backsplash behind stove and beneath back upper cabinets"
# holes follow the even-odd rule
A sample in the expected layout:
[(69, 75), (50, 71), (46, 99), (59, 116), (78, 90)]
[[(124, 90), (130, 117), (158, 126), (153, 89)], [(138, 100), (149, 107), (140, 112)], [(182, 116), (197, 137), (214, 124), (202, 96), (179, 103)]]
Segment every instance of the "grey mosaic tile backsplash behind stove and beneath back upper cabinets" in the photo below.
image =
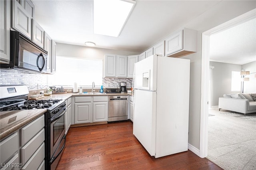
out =
[[(126, 87), (132, 87), (132, 78), (102, 78), (102, 85), (106, 87), (120, 87), (126, 82)], [(45, 89), (48, 85), (46, 74), (28, 73), (16, 69), (0, 69), (0, 85), (27, 85), (28, 90)]]

